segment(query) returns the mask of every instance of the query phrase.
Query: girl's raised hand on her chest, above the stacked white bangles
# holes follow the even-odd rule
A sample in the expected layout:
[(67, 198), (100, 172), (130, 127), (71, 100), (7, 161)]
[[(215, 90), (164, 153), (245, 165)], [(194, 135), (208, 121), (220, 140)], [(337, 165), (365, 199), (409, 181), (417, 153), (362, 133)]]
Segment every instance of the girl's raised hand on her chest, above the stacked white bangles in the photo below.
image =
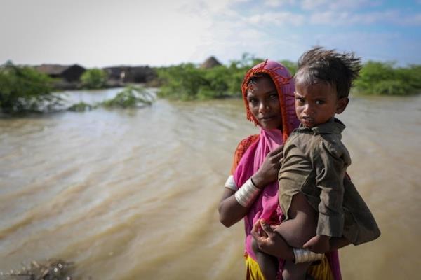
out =
[(283, 158), (283, 145), (267, 154), (265, 161), (260, 166), (251, 180), (257, 188), (265, 188), (269, 183), (278, 179), (278, 172), (281, 168), (281, 159)]

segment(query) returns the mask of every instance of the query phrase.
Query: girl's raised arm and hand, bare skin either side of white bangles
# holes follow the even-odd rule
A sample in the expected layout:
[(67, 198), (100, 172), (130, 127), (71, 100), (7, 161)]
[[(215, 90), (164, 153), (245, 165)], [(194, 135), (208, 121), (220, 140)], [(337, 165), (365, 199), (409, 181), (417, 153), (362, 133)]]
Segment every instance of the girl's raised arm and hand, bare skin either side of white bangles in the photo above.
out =
[[(278, 178), (278, 170), (281, 165), (283, 146), (279, 146), (274, 151), (267, 154), (265, 161), (258, 171), (251, 176), (253, 185), (262, 190), (269, 183)], [(236, 200), (234, 190), (224, 188), (224, 193), (218, 207), (220, 222), (226, 227), (234, 225), (240, 221), (248, 212), (248, 208), (243, 207)]]

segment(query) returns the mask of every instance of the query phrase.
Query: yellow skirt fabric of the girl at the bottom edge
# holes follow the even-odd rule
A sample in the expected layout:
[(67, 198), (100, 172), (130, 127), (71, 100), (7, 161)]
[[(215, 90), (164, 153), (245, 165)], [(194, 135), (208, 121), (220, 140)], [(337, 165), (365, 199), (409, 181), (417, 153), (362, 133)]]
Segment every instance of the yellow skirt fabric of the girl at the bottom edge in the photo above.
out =
[[(265, 280), (258, 262), (250, 258), (250, 255), (245, 255), (246, 258), (246, 279), (247, 280)], [(330, 271), (330, 266), (326, 256), (321, 260), (319, 265), (312, 265), (307, 269), (307, 273), (311, 275), (314, 280), (333, 280), (333, 274)]]

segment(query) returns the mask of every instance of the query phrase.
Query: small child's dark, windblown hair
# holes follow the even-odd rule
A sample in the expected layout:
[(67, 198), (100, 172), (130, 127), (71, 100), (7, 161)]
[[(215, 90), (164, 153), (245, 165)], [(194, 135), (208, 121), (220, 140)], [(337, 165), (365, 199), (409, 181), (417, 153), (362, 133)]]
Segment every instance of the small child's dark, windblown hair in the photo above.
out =
[(329, 83), (336, 87), (338, 98), (347, 97), (361, 67), (361, 58), (355, 57), (354, 52), (340, 54), (336, 50), (316, 47), (298, 60), (295, 83)]

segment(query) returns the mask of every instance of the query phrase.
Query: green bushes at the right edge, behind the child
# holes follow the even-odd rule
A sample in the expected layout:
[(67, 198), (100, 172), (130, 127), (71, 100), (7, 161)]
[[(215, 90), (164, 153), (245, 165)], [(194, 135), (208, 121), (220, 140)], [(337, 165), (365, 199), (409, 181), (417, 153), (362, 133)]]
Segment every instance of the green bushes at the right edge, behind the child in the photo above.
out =
[(363, 65), (354, 83), (356, 92), (377, 95), (408, 95), (421, 92), (421, 65), (394, 67), (391, 62)]

